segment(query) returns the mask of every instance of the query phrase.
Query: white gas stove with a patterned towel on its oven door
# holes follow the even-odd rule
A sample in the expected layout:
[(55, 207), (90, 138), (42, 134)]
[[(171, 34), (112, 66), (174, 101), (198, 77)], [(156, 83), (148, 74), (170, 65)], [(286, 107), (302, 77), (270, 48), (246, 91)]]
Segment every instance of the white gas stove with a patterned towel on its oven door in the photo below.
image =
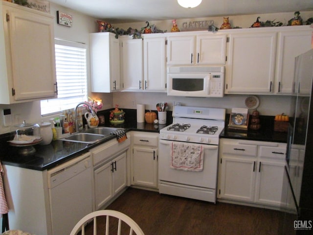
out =
[(216, 202), (224, 124), (225, 109), (174, 106), (173, 123), (160, 130), (160, 193)]

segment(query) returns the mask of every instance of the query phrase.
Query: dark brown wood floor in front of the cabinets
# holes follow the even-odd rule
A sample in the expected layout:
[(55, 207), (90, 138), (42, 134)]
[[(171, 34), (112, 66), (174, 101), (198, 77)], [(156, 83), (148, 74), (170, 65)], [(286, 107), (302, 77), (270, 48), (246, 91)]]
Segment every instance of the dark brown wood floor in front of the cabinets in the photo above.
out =
[(127, 214), (145, 235), (278, 235), (284, 216), (279, 211), (213, 204), (136, 188), (128, 188), (106, 209)]

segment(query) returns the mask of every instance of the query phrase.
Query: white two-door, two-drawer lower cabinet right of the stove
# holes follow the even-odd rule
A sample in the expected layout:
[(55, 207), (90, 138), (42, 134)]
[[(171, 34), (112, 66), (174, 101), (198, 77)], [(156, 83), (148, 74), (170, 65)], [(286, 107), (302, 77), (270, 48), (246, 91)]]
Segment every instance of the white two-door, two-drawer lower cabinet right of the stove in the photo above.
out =
[(219, 199), (280, 207), (286, 143), (221, 139)]

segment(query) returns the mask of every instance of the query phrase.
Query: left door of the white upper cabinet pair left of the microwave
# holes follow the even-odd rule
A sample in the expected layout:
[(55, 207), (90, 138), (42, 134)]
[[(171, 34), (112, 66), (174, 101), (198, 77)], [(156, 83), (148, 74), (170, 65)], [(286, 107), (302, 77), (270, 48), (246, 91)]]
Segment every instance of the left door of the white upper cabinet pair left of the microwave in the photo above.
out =
[(122, 39), (121, 47), (123, 90), (143, 90), (142, 39)]

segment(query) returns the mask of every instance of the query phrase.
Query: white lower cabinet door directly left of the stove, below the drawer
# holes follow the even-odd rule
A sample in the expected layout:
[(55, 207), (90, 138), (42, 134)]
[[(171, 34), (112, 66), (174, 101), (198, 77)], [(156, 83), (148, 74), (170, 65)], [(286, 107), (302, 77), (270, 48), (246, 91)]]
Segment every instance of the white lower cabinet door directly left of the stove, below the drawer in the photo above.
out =
[(133, 184), (157, 188), (157, 149), (134, 146)]

